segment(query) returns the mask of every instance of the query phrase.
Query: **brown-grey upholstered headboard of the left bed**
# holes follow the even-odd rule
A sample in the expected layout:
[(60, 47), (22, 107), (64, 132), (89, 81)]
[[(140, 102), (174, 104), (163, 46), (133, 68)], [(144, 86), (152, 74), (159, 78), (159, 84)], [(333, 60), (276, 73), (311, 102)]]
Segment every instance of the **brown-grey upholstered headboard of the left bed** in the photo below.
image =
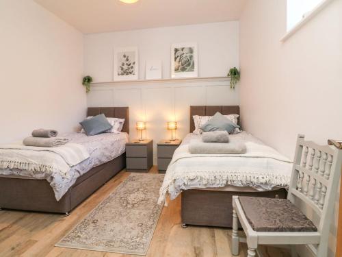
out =
[(129, 133), (128, 107), (89, 107), (87, 116), (96, 116), (101, 113), (105, 114), (105, 117), (115, 117), (124, 119), (124, 126), (122, 127), (122, 132)]

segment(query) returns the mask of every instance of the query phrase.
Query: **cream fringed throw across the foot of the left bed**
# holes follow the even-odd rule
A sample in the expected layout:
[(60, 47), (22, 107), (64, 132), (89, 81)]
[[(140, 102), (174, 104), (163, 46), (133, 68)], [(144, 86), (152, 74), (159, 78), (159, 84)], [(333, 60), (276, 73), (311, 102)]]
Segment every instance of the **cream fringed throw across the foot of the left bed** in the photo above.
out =
[(59, 147), (30, 147), (23, 143), (0, 145), (0, 169), (58, 172), (68, 178), (70, 168), (89, 158), (83, 145), (67, 143)]

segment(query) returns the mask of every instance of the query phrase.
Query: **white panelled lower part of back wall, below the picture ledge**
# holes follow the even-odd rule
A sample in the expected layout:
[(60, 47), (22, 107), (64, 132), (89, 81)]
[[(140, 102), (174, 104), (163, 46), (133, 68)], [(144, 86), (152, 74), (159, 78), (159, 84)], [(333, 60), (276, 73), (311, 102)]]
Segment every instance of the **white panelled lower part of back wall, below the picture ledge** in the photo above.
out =
[(239, 105), (239, 86), (228, 78), (103, 83), (92, 87), (88, 106), (129, 106), (130, 138), (138, 138), (137, 121), (146, 121), (144, 138), (153, 138), (155, 164), (159, 140), (171, 138), (167, 121), (177, 121), (176, 138), (189, 133), (189, 106)]

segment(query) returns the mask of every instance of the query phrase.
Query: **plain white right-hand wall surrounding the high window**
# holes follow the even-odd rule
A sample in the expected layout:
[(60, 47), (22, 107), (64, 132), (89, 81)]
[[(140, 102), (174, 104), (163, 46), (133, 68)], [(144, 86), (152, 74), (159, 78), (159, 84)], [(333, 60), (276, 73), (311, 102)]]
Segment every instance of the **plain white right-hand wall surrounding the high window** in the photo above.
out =
[[(321, 144), (342, 138), (342, 0), (280, 42), (286, 5), (249, 0), (241, 15), (241, 120), (248, 132), (292, 158), (298, 133)], [(330, 256), (335, 234), (336, 223)]]

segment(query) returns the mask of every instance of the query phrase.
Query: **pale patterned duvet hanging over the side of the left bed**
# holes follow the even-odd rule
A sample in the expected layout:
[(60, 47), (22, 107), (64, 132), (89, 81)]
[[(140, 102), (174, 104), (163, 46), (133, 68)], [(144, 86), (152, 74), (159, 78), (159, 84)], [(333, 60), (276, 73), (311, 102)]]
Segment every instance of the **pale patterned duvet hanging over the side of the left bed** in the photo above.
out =
[(71, 132), (62, 134), (61, 136), (69, 138), (70, 143), (83, 145), (90, 154), (90, 158), (83, 160), (83, 162), (80, 162), (70, 169), (68, 178), (59, 173), (48, 175), (47, 173), (18, 169), (0, 169), (0, 176), (6, 178), (47, 180), (53, 188), (55, 198), (58, 201), (75, 184), (79, 176), (123, 154), (129, 138), (125, 132), (120, 134), (103, 133), (96, 136), (86, 136), (83, 133)]

